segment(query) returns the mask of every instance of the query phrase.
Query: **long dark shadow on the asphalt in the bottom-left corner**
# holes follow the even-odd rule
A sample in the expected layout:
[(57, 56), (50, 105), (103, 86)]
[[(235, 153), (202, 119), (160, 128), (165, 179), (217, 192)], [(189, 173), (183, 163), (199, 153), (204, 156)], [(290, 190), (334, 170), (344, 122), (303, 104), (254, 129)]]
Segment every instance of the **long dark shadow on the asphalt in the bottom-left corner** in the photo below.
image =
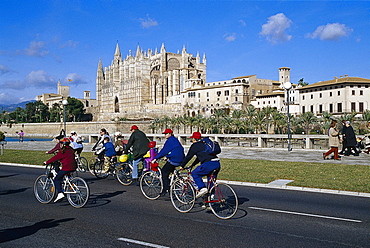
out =
[(24, 238), (35, 234), (41, 229), (48, 229), (59, 226), (60, 223), (74, 220), (74, 218), (67, 218), (61, 220), (48, 219), (40, 222), (36, 222), (30, 226), (8, 228), (0, 230), (0, 243), (9, 242), (12, 240)]

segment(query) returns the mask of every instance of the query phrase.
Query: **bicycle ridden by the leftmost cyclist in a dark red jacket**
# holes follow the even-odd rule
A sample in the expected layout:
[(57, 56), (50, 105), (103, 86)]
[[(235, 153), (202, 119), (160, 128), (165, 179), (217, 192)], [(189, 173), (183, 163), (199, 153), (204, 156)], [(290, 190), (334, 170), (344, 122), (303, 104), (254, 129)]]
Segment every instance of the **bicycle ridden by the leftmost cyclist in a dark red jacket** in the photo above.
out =
[[(51, 166), (47, 166), (49, 170)], [(50, 169), (48, 174), (37, 177), (33, 192), (36, 199), (43, 204), (50, 203), (56, 195), (53, 178), (56, 175), (55, 170)], [(74, 176), (74, 172), (64, 175), (62, 188), (67, 200), (72, 207), (82, 208), (86, 205), (90, 197), (90, 188), (86, 181), (80, 177)]]

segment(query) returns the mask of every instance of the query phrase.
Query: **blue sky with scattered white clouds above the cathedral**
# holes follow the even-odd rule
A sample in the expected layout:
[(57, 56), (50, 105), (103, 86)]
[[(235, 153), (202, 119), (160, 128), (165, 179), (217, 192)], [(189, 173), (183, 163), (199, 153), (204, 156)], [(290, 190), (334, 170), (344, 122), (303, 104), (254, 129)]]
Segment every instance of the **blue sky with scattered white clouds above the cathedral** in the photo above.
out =
[[(1, 0), (0, 104), (57, 93), (95, 97), (99, 59), (137, 46), (207, 58), (207, 81), (257, 74), (310, 84), (370, 78), (370, 1)], [(68, 82), (72, 79), (72, 82)]]

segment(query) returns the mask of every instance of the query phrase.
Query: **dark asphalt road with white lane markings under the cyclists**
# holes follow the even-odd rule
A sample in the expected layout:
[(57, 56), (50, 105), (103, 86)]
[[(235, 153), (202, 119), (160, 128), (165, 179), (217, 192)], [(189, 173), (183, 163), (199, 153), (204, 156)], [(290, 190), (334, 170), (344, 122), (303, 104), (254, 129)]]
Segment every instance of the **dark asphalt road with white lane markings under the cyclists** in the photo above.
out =
[(233, 186), (240, 209), (221, 220), (87, 173), (84, 208), (43, 205), (33, 195), (41, 173), (0, 165), (0, 247), (369, 247), (368, 197)]

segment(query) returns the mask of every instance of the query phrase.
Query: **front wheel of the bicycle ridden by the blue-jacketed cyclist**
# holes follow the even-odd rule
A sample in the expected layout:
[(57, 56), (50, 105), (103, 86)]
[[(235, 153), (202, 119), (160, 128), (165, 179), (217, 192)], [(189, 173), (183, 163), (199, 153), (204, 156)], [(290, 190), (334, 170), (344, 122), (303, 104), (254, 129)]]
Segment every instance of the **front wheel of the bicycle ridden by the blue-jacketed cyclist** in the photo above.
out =
[(140, 177), (140, 189), (149, 200), (158, 199), (163, 189), (160, 173), (154, 171), (145, 172)]

